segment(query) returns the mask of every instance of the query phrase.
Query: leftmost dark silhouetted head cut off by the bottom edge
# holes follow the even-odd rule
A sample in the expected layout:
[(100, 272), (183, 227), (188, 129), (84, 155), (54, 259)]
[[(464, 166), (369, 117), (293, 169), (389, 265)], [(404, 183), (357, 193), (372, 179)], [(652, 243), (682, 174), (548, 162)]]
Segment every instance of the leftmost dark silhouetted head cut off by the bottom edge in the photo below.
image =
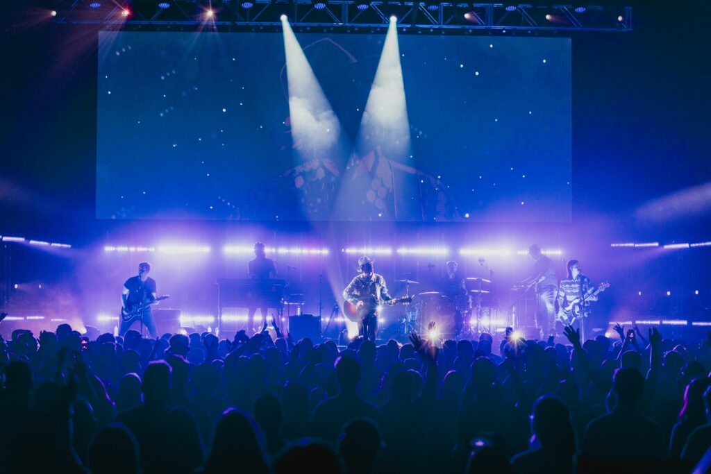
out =
[(137, 473), (136, 438), (122, 424), (100, 429), (89, 445), (88, 467), (92, 474)]

